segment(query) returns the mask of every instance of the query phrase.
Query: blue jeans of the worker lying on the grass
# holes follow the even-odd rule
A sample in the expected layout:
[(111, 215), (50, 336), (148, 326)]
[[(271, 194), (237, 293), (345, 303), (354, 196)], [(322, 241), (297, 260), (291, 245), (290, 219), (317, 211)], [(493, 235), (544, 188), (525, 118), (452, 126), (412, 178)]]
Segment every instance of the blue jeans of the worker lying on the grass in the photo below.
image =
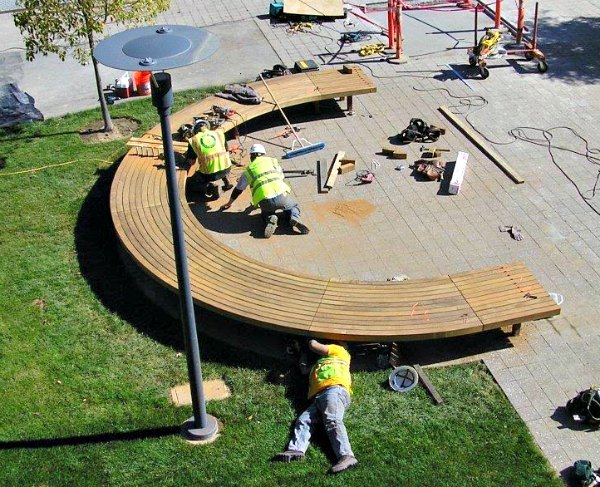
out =
[(319, 392), (294, 425), (288, 450), (306, 452), (314, 425), (323, 422), (335, 456), (352, 455), (352, 447), (344, 426), (344, 413), (350, 407), (350, 394), (342, 386), (331, 386)]

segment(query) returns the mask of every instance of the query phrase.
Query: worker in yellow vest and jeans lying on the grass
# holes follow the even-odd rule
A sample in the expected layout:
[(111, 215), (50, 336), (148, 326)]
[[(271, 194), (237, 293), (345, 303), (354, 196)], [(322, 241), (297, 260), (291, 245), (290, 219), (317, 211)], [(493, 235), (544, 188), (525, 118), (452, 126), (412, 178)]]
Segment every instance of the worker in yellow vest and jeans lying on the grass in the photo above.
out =
[(311, 403), (298, 416), (287, 449), (275, 455), (274, 460), (280, 462), (302, 460), (314, 425), (322, 422), (337, 458), (330, 472), (339, 473), (358, 463), (344, 426), (344, 413), (350, 406), (352, 379), (350, 354), (342, 345), (325, 345), (316, 340), (308, 343), (311, 351), (321, 355), (311, 369), (308, 379), (308, 398)]

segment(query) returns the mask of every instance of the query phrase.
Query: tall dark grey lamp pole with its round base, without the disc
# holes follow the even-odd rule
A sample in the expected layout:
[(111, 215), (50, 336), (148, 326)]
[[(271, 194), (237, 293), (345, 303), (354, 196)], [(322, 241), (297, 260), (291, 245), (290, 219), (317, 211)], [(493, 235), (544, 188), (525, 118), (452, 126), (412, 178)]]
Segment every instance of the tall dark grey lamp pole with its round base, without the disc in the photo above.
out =
[(171, 107), (173, 106), (171, 75), (164, 72), (156, 73), (152, 77), (151, 85), (152, 104), (158, 111), (162, 131), (167, 191), (169, 195), (169, 209), (171, 212), (171, 228), (173, 231), (173, 248), (175, 251), (177, 284), (179, 287), (180, 314), (183, 324), (188, 376), (190, 379), (192, 409), (194, 411), (194, 416), (183, 424), (182, 432), (184, 436), (191, 440), (210, 440), (217, 434), (218, 424), (213, 416), (206, 414), (206, 405), (204, 401), (202, 368), (200, 366), (200, 347), (198, 345), (194, 302), (192, 300), (185, 239), (181, 222), (179, 188), (177, 187), (177, 170), (175, 168), (175, 152), (173, 150), (171, 120), (169, 118)]

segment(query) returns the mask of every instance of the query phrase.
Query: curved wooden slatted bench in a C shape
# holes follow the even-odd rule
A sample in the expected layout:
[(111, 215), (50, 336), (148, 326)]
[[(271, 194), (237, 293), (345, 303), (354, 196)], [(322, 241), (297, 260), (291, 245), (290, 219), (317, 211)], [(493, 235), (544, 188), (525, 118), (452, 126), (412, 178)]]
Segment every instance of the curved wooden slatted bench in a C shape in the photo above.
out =
[[(375, 91), (356, 68), (351, 74), (323, 71), (277, 78), (269, 84), (283, 106)], [(189, 122), (213, 104), (224, 103), (216, 97), (204, 99), (175, 114), (173, 126)], [(240, 120), (275, 109), (268, 101), (258, 106), (225, 104), (241, 114)], [(225, 128), (235, 125), (233, 120)], [(149, 132), (157, 133), (160, 127)], [(178, 171), (181, 195), (186, 177), (185, 171)], [(236, 252), (203, 229), (183, 196), (181, 204), (195, 303), (245, 323), (329, 339), (395, 341), (477, 333), (560, 312), (523, 264), (404, 282), (322, 279)], [(115, 175), (110, 208), (126, 251), (150, 276), (176, 292), (162, 162), (130, 151)]]

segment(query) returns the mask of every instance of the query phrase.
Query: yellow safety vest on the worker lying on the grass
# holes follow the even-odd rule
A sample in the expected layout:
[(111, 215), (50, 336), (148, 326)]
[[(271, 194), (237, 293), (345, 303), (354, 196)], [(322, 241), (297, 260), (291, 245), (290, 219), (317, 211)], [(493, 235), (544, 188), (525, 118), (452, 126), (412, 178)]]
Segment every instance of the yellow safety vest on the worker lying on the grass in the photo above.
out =
[[(334, 354), (331, 353), (332, 347)], [(330, 355), (320, 358), (310, 371), (308, 398), (331, 386), (342, 386), (352, 394), (350, 376), (350, 354), (338, 345), (329, 345)], [(332, 356), (334, 355), (334, 356)]]

